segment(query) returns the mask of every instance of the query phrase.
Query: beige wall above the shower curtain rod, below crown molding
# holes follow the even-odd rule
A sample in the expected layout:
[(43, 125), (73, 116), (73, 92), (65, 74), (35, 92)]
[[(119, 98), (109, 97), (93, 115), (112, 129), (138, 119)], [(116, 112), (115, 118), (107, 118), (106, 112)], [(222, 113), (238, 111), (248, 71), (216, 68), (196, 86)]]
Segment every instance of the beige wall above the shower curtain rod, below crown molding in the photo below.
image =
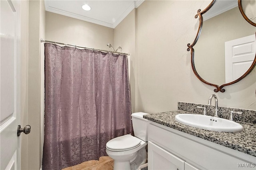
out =
[(112, 50), (114, 29), (94, 23), (46, 12), (46, 40)]

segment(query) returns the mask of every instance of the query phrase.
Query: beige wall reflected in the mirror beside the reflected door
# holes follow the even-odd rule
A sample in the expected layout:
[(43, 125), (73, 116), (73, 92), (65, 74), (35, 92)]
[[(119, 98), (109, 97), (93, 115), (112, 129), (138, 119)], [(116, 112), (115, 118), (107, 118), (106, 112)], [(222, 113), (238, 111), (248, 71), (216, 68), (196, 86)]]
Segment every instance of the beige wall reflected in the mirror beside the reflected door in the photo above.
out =
[(255, 32), (256, 27), (244, 20), (238, 7), (204, 21), (194, 46), (198, 74), (208, 82), (225, 84), (225, 42), (254, 35)]

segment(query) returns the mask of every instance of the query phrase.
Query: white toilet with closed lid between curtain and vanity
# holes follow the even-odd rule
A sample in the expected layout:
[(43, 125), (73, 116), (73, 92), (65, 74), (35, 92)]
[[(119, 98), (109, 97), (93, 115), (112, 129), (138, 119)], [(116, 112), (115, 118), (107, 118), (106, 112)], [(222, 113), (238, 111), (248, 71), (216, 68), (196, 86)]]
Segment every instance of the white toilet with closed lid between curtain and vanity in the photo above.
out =
[(146, 163), (148, 141), (148, 113), (132, 113), (134, 136), (124, 135), (111, 139), (106, 144), (106, 152), (114, 160), (114, 170), (138, 170)]

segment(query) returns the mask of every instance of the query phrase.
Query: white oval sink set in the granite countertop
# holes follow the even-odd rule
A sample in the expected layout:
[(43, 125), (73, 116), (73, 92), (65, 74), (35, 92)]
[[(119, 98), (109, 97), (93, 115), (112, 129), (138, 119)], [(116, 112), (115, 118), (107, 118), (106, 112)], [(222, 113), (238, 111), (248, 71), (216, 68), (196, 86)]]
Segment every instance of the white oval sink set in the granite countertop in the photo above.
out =
[(219, 132), (239, 132), (244, 130), (242, 125), (228, 119), (220, 117), (196, 115), (196, 114), (178, 114), (175, 120), (188, 126), (198, 127), (210, 131)]

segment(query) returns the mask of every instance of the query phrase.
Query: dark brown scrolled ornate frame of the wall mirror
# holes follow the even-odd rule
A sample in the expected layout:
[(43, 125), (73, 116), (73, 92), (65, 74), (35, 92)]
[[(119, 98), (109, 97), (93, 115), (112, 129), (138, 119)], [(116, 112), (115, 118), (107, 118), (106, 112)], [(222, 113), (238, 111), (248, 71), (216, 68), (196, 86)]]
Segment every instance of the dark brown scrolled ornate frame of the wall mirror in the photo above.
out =
[[(200, 9), (197, 11), (197, 14), (196, 14), (195, 18), (199, 17), (199, 27), (198, 27), (198, 31), (197, 31), (197, 34), (196, 34), (196, 38), (194, 39), (194, 42), (191, 45), (190, 45), (190, 43), (188, 43), (187, 51), (191, 50), (191, 66), (192, 66), (192, 70), (193, 70), (194, 74), (196, 75), (196, 77), (200, 81), (202, 81), (203, 83), (208, 84), (210, 86), (216, 87), (216, 89), (214, 89), (214, 92), (219, 92), (219, 91), (220, 92), (225, 92), (225, 89), (223, 89), (224, 86), (228, 86), (228, 85), (231, 85), (231, 84), (235, 84), (236, 82), (239, 82), (240, 80), (245, 78), (253, 70), (254, 66), (256, 65), (256, 55), (255, 55), (254, 61), (253, 61), (252, 65), (250, 66), (250, 68), (240, 78), (238, 78), (237, 80), (234, 80), (234, 81), (232, 81), (230, 83), (222, 84), (221, 86), (219, 86), (217, 84), (212, 84), (210, 82), (207, 82), (202, 77), (200, 77), (200, 75), (196, 71), (196, 67), (195, 67), (195, 63), (194, 63), (194, 48), (193, 47), (194, 47), (194, 45), (196, 45), (196, 42), (198, 41), (198, 38), (199, 38), (200, 33), (201, 33), (201, 29), (202, 29), (202, 25), (203, 25), (203, 17), (202, 17), (202, 15), (205, 14), (208, 10), (210, 10), (210, 8), (215, 4), (216, 1), (217, 0), (212, 0), (212, 2), (202, 12), (201, 12)], [(244, 12), (242, 10), (242, 3), (241, 3), (241, 1), (242, 0), (238, 0), (238, 6), (239, 6), (239, 9), (240, 9), (240, 11), (241, 11), (241, 13), (243, 15)], [(243, 17), (245, 19), (247, 18), (245, 14), (243, 15)], [(248, 18), (246, 19), (246, 21), (248, 21), (249, 23), (252, 22)], [(256, 26), (255, 23), (254, 23), (254, 26)]]

